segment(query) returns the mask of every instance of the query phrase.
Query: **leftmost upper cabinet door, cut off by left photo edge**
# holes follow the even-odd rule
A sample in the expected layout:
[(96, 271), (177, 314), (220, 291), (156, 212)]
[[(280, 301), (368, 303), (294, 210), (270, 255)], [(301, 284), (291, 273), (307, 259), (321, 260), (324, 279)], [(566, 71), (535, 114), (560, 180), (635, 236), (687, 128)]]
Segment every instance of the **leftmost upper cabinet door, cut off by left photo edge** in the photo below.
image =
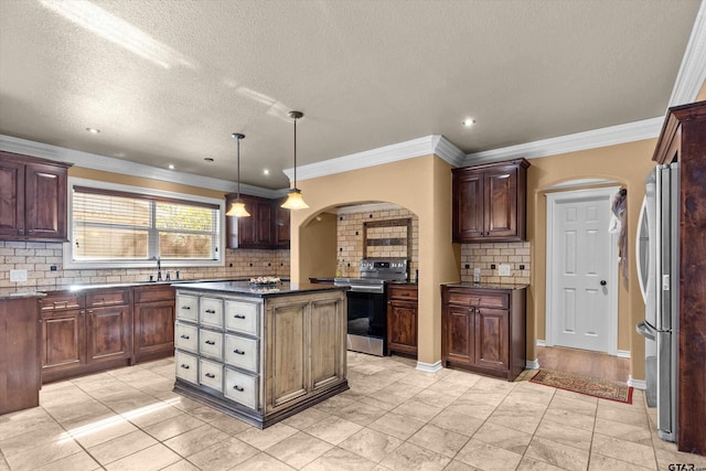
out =
[(24, 235), (24, 164), (3, 157), (0, 161), (0, 236), (18, 235)]

